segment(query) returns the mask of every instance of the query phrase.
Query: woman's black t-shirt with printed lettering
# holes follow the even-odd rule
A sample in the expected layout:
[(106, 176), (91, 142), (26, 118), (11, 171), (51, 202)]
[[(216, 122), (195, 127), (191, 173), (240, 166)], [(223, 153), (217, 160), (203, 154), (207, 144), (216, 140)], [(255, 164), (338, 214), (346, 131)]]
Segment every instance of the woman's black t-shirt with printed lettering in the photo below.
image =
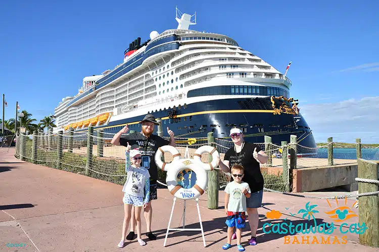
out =
[[(253, 152), (255, 148), (257, 148), (257, 152), (261, 151), (261, 148), (259, 148), (258, 145), (245, 142), (241, 152), (235, 153), (234, 147), (232, 147), (225, 153), (224, 157), (224, 160), (229, 161), (230, 168), (234, 164), (244, 166), (245, 175), (242, 178), (242, 181), (247, 182), (249, 184), (252, 193), (261, 191), (263, 189), (264, 183), (259, 163), (253, 157)], [(230, 178), (230, 181), (233, 181), (232, 177)]]

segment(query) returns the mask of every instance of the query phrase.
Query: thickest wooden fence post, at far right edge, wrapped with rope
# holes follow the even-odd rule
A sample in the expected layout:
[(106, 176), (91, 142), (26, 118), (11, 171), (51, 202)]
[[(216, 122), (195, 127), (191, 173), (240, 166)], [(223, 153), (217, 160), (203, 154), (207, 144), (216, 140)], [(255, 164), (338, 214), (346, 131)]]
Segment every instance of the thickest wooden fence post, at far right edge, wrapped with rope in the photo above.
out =
[[(358, 159), (358, 177), (378, 180), (378, 164), (372, 161)], [(358, 182), (358, 194), (378, 191), (378, 185)], [(359, 234), (362, 245), (379, 247), (379, 196), (359, 197), (358, 218), (360, 226), (365, 224), (367, 229)]]

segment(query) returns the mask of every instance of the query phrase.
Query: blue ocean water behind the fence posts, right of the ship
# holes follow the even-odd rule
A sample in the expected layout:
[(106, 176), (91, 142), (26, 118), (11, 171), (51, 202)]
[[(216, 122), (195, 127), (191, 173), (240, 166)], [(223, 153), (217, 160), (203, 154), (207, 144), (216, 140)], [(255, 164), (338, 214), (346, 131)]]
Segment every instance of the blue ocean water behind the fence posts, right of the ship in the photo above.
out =
[[(356, 159), (357, 152), (355, 148), (334, 148), (333, 157), (336, 159)], [(317, 149), (316, 158), (327, 158), (327, 149)], [(379, 148), (362, 148), (362, 158), (366, 160), (379, 160)]]

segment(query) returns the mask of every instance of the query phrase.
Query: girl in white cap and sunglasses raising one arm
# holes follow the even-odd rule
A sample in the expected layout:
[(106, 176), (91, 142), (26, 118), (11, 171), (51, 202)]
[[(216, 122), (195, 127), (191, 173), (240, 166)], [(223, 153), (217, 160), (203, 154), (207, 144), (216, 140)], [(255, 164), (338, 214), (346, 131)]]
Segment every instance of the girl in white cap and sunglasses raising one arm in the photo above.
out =
[[(121, 241), (118, 247), (125, 246), (126, 228), (129, 226), (131, 217), (131, 208), (134, 206), (135, 220), (137, 222), (137, 240), (139, 245), (144, 246), (146, 242), (141, 239), (141, 209), (146, 208), (149, 204), (150, 196), (150, 174), (147, 169), (141, 167), (141, 153), (138, 150), (130, 150), (131, 146), (127, 144), (125, 151), (125, 170), (127, 178), (122, 192), (124, 192), (124, 223), (122, 225)], [(129, 166), (129, 158), (131, 165)]]

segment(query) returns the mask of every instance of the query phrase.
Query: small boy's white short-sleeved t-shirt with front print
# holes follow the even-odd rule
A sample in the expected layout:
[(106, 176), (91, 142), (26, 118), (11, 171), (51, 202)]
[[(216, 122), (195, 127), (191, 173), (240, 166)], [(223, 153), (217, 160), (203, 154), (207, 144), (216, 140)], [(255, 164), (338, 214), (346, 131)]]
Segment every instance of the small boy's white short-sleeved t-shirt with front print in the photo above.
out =
[(249, 184), (246, 182), (229, 182), (225, 187), (225, 193), (229, 194), (227, 209), (229, 212), (246, 212), (246, 197), (242, 191), (246, 188), (251, 193)]

